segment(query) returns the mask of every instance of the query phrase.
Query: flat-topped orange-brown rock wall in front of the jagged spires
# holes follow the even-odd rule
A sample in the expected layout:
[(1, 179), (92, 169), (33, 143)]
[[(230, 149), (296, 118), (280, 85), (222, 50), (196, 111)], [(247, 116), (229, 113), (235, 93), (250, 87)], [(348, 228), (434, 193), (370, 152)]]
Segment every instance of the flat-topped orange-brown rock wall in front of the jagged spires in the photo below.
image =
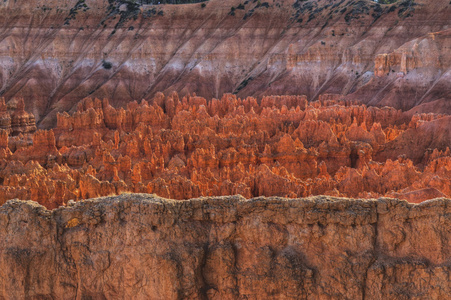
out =
[(450, 215), (448, 199), (9, 201), (0, 297), (446, 299)]

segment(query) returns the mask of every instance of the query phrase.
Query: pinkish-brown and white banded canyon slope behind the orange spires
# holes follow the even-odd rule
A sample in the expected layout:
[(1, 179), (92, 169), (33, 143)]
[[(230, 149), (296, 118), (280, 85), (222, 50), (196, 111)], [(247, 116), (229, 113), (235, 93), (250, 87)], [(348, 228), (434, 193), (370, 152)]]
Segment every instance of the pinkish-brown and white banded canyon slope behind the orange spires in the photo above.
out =
[(87, 96), (335, 93), (405, 110), (450, 98), (448, 0), (130, 3), (0, 2), (0, 95), (23, 97), (40, 128)]

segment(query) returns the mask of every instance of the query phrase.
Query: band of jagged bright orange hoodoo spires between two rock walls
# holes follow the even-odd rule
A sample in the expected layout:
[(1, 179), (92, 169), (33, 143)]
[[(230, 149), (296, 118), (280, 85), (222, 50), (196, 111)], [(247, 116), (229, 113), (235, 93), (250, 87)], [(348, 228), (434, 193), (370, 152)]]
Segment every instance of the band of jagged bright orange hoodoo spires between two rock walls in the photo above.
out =
[(159, 93), (114, 108), (87, 98), (57, 127), (0, 135), (0, 203), (155, 193), (451, 197), (451, 119), (322, 95), (221, 99)]

